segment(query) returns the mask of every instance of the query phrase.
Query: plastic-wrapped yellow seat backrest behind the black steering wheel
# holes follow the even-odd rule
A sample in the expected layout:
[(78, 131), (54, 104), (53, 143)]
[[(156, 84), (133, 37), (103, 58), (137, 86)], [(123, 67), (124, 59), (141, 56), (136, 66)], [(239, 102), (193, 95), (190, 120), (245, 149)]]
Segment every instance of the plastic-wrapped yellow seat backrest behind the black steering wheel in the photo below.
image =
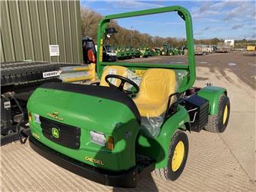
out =
[[(117, 65), (111, 65), (111, 66), (107, 66), (104, 68), (104, 71), (101, 75), (101, 81), (100, 81), (100, 85), (101, 86), (106, 86), (108, 87), (108, 83), (105, 81), (105, 77), (108, 74), (118, 74), (121, 75), (123, 77), (127, 76), (127, 70), (128, 68), (125, 68), (123, 66), (117, 66)], [(120, 80), (113, 78), (112, 80), (110, 80), (112, 84), (115, 85), (119, 85), (120, 84)]]

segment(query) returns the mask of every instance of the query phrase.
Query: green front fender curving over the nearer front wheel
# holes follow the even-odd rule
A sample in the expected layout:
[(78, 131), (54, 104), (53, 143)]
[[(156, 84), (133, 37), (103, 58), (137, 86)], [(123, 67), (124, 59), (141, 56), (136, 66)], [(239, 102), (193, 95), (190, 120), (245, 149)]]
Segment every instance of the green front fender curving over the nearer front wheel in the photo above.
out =
[(156, 168), (166, 167), (168, 164), (171, 137), (178, 128), (183, 129), (185, 124), (190, 124), (188, 111), (179, 105), (177, 113), (162, 124), (158, 137), (149, 138), (140, 133), (138, 134), (136, 153), (154, 159), (156, 161)]

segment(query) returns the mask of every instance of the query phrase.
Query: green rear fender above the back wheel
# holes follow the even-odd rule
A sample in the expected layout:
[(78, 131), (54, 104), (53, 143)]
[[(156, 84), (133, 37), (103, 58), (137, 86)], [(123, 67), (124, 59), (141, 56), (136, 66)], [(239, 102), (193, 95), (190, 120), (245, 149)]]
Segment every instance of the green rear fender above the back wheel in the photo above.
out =
[(209, 101), (209, 114), (218, 114), (218, 99), (221, 94), (227, 94), (227, 90), (216, 86), (207, 86), (198, 91), (197, 94)]

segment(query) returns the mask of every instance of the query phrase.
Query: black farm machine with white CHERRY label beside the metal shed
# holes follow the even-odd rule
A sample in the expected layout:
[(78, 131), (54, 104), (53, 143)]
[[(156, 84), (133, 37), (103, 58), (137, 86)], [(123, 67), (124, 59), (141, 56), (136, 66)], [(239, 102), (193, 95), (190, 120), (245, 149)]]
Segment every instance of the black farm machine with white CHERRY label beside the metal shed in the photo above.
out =
[(1, 63), (1, 145), (21, 139), (28, 127), (29, 96), (45, 82), (61, 81), (60, 68), (77, 64), (44, 61)]

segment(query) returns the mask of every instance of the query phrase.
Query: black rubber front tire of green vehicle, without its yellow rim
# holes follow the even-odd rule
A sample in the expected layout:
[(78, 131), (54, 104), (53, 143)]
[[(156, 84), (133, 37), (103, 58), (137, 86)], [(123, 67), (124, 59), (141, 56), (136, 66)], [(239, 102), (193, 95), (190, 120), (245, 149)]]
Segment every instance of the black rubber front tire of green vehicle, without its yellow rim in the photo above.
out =
[[(173, 170), (172, 168), (172, 158), (175, 154), (175, 147), (177, 146), (178, 142), (182, 141), (185, 147), (184, 156), (181, 162), (181, 165), (178, 167), (178, 170)], [(182, 131), (176, 131), (175, 134), (171, 138), (171, 145), (169, 150), (169, 157), (168, 157), (168, 165), (167, 167), (161, 169), (155, 169), (154, 174), (156, 177), (159, 177), (163, 180), (177, 180), (180, 177), (182, 171), (185, 168), (185, 164), (188, 158), (188, 136)]]

